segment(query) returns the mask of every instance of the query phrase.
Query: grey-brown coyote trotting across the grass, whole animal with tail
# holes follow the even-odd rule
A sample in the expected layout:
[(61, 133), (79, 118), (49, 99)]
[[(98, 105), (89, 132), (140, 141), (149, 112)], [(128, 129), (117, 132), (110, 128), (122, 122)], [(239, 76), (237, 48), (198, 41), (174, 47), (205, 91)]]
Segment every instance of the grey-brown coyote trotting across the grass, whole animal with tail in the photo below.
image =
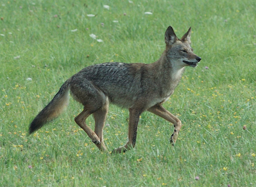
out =
[[(190, 36), (191, 27), (178, 39), (169, 26), (165, 32), (166, 49), (159, 60), (152, 64), (107, 62), (82, 69), (66, 80), (52, 101), (33, 119), (29, 133), (59, 116), (68, 105), (70, 91), (73, 98), (83, 104), (83, 111), (75, 117), (75, 122), (100, 150), (107, 150), (103, 141), (103, 128), (109, 103), (129, 109), (128, 142), (112, 153), (125, 152), (135, 147), (137, 124), (144, 111), (173, 123), (174, 132), (170, 142), (174, 145), (181, 121), (162, 104), (173, 94), (185, 66), (196, 67), (201, 60), (190, 47)], [(85, 123), (90, 114), (95, 119), (94, 131)]]

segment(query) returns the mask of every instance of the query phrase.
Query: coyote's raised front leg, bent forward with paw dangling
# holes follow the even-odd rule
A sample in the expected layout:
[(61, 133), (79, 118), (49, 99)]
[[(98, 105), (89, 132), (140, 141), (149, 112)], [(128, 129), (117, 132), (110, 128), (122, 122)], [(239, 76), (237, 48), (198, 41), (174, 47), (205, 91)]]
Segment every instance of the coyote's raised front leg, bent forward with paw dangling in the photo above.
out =
[(171, 135), (170, 142), (172, 145), (174, 145), (180, 132), (181, 121), (173, 114), (171, 114), (168, 110), (166, 110), (161, 104), (156, 104), (147, 110), (173, 123), (174, 132)]

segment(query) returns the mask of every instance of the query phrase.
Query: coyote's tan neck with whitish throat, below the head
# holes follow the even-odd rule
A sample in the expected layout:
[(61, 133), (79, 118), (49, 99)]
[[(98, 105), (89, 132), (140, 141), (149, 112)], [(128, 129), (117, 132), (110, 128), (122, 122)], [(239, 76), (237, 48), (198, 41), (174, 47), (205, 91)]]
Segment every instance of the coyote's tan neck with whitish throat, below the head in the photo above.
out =
[(152, 64), (155, 73), (155, 79), (159, 81), (160, 90), (163, 96), (170, 96), (180, 82), (183, 66), (175, 65), (175, 61), (168, 59), (166, 51), (163, 52), (159, 60)]

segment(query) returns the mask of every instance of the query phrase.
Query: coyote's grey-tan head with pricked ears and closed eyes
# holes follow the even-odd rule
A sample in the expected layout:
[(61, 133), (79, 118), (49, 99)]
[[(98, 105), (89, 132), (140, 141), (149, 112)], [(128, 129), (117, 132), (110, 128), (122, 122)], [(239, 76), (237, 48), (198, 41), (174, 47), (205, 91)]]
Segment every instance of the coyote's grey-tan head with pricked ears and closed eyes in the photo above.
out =
[(190, 44), (191, 27), (187, 33), (179, 39), (171, 26), (166, 29), (165, 43), (166, 43), (166, 55), (168, 61), (173, 66), (191, 66), (196, 67), (201, 58), (194, 54)]

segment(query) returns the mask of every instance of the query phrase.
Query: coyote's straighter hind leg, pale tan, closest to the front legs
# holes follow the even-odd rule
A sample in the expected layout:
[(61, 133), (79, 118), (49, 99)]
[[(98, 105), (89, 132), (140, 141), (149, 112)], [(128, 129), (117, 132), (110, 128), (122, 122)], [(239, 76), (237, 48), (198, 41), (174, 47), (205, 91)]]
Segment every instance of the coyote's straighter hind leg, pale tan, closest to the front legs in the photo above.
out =
[(99, 110), (95, 111), (95, 113), (92, 114), (94, 117), (94, 120), (95, 120), (94, 132), (100, 138), (100, 144), (96, 144), (96, 146), (101, 151), (107, 150), (107, 148), (104, 144), (104, 140), (103, 140), (103, 128), (104, 128), (105, 121), (107, 118), (108, 108), (109, 108), (109, 102), (107, 100), (107, 102), (105, 103), (105, 105), (102, 108), (100, 108)]

